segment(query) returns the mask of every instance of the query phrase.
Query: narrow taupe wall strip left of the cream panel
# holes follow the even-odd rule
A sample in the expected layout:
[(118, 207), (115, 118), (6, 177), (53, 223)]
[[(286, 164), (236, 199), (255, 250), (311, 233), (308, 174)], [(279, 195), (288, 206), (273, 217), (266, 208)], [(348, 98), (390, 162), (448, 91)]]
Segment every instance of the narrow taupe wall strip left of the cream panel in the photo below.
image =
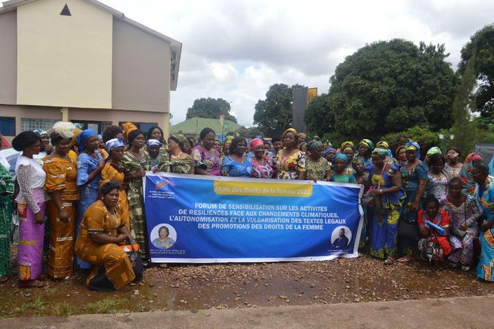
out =
[(17, 14), (0, 14), (0, 104), (16, 104)]

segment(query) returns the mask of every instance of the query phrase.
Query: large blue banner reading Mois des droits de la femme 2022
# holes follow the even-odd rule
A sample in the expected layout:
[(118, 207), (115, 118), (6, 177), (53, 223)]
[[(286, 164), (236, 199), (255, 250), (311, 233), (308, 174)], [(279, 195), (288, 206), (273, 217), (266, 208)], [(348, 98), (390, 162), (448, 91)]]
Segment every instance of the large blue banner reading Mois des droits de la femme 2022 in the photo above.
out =
[(152, 262), (278, 262), (357, 257), (362, 187), (148, 172)]

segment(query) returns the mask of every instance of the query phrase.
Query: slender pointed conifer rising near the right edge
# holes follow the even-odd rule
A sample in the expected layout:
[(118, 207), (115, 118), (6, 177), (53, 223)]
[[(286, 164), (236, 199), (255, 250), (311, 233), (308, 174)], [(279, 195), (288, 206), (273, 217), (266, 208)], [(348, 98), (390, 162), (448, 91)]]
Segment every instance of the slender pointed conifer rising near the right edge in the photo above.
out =
[(475, 72), (475, 55), (471, 56), (464, 66), (460, 84), (456, 89), (456, 97), (453, 102), (453, 116), (455, 122), (451, 133), (455, 135), (456, 147), (460, 148), (463, 155), (469, 153), (474, 146), (475, 124), (471, 121), (471, 111), (475, 111), (475, 99), (472, 95), (477, 84)]

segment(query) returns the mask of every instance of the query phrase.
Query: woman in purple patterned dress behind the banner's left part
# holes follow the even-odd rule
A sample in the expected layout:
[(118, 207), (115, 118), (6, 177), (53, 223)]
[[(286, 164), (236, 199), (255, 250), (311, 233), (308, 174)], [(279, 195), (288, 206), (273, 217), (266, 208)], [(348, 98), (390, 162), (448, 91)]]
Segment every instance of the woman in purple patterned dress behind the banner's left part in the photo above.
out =
[[(191, 157), (196, 167), (196, 174), (221, 176), (220, 152), (214, 146), (216, 134), (211, 128), (204, 128), (200, 132), (201, 145), (192, 149)], [(227, 137), (228, 141), (228, 137)]]

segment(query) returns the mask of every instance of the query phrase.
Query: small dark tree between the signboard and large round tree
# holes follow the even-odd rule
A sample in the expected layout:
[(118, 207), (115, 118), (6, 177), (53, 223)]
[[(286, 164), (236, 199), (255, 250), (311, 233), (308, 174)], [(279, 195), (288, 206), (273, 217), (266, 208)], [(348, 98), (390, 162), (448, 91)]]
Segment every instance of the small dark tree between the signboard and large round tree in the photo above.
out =
[(329, 95), (323, 93), (317, 96), (307, 105), (304, 116), (307, 132), (323, 136), (325, 133), (334, 130), (334, 113), (329, 106)]

